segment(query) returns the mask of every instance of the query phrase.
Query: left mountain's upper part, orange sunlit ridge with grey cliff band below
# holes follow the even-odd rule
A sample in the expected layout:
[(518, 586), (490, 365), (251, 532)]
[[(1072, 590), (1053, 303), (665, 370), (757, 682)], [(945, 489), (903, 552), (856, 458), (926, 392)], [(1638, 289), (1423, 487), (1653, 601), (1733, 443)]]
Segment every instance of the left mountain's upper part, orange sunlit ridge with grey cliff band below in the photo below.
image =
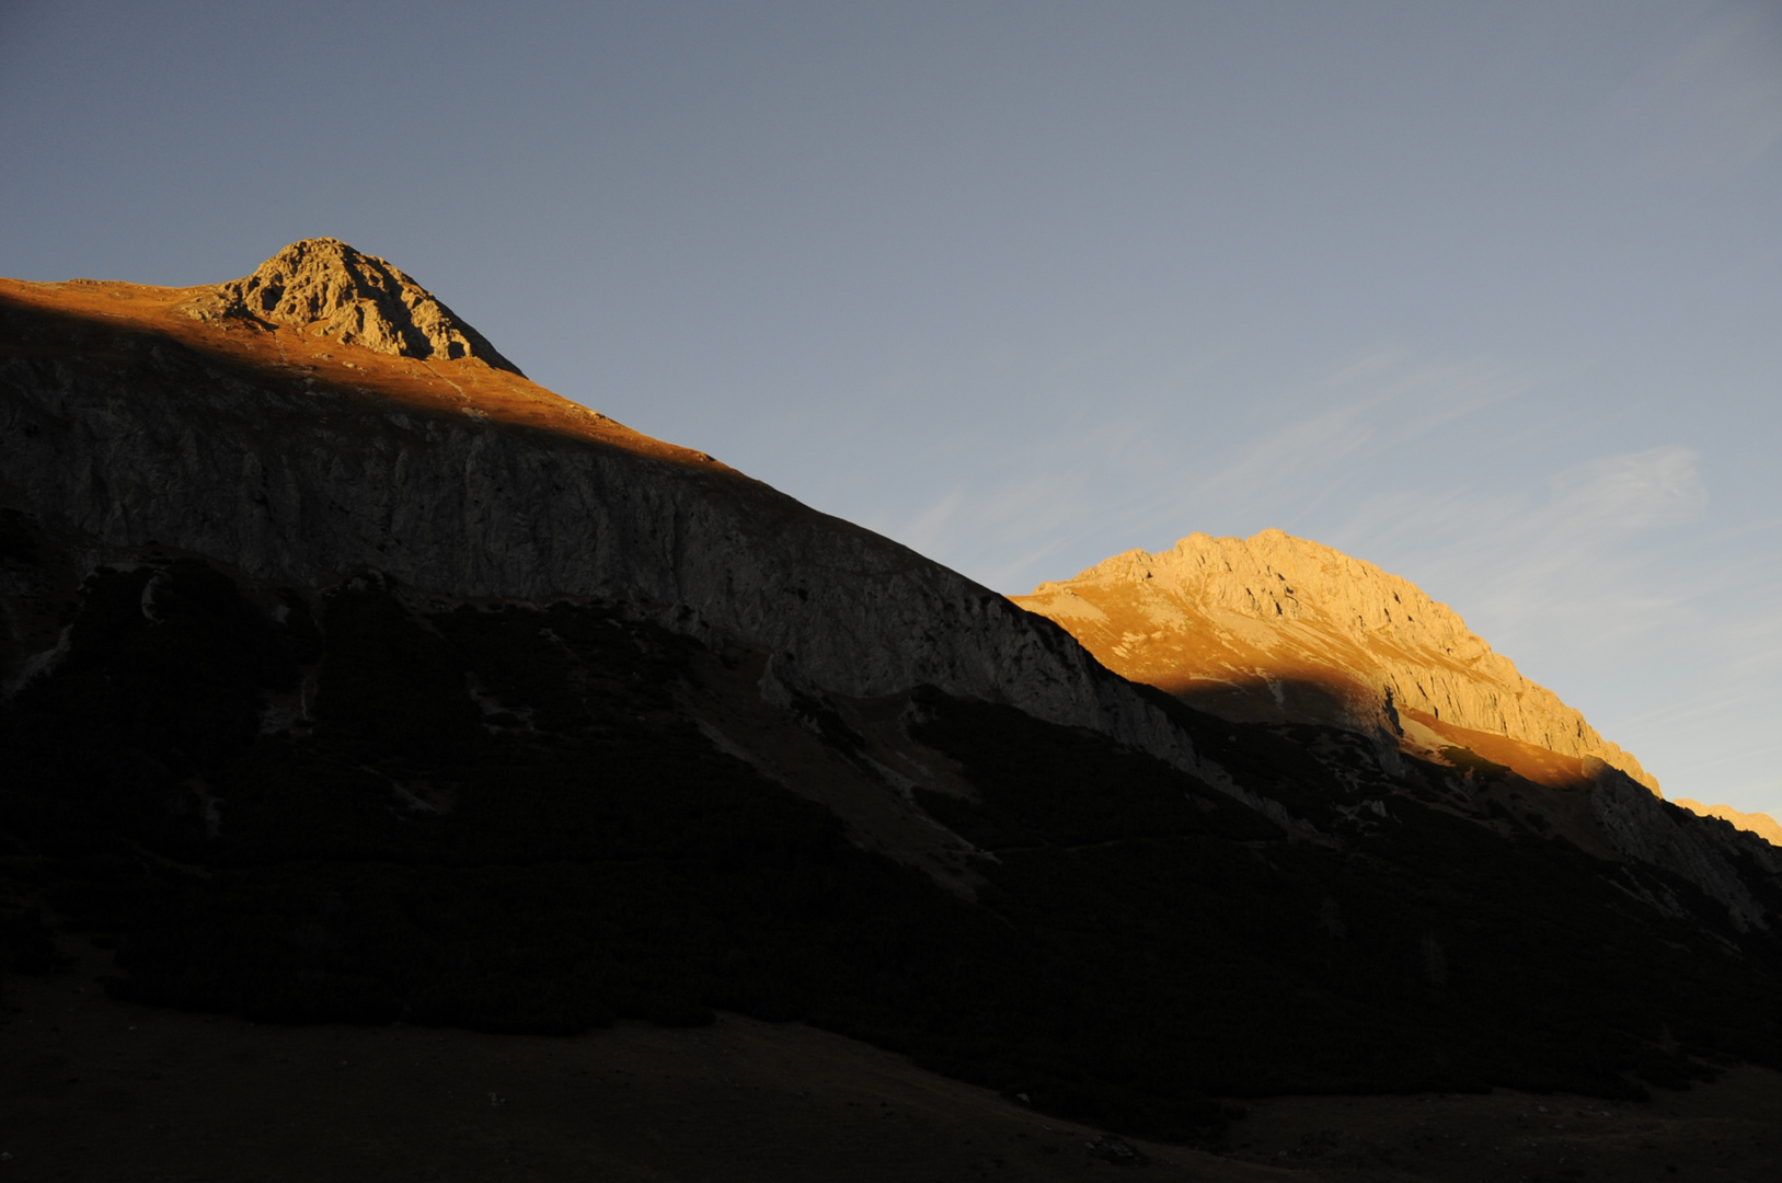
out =
[(410, 289), (333, 241), (196, 294), (5, 281), (0, 502), (93, 563), (153, 542), (292, 586), (634, 597), (773, 650), (770, 695), (934, 684), (1198, 766), (1062, 629), (527, 383), (456, 321), (440, 346)]

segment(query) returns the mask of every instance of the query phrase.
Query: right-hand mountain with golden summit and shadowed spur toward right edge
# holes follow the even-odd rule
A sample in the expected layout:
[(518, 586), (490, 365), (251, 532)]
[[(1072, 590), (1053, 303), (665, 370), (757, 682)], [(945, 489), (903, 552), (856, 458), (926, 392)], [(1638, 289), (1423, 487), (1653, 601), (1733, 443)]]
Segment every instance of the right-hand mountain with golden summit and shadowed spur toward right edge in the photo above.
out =
[[(1401, 752), (1463, 773), (1506, 770), (1529, 786), (1543, 825), (1581, 848), (1664, 862), (1757, 919), (1736, 903), (1730, 866), (1709, 869), (1720, 859), (1705, 846), (1629, 823), (1629, 809), (1657, 818), (1629, 784), (1661, 796), (1632, 754), (1522, 677), (1447, 604), (1370, 563), (1278, 529), (1189, 534), (1012, 602), (1057, 620), (1110, 670), (1219, 718), (1336, 727), (1369, 738), (1386, 766)], [(1590, 793), (1588, 818), (1565, 804), (1574, 789)], [(1762, 814), (1713, 816), (1764, 839), (1775, 827)]]

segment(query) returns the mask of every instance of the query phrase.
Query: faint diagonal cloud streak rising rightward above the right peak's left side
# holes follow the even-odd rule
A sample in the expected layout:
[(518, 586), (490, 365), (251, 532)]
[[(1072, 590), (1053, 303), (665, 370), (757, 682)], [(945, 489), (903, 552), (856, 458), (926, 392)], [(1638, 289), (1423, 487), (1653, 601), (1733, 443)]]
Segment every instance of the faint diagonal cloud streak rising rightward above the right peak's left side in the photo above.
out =
[(871, 526), (991, 586), (1025, 592), (1130, 545), (1162, 547), (1196, 529), (1255, 531), (1354, 504), (1418, 440), (1438, 444), (1443, 429), (1518, 392), (1483, 365), (1415, 367), (1379, 351), (1279, 394), (1274, 424), (1247, 442), (1203, 431), (1167, 403), (1117, 415), (1083, 406), (1060, 417), (1057, 433), (984, 458), (975, 479), (909, 518)]

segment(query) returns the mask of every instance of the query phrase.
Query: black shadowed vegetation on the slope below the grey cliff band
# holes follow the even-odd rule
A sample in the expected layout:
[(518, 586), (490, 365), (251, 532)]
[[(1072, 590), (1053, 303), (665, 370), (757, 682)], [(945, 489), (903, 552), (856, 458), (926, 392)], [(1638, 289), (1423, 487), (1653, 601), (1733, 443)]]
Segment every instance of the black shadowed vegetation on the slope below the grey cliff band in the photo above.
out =
[(1101, 736), (916, 691), (916, 738), (980, 795), (920, 798), (993, 855), (968, 903), (702, 739), (674, 697), (695, 643), (624, 606), (376, 575), (253, 599), (169, 558), (93, 575), (68, 624), (0, 711), (5, 971), (53, 967), (53, 916), (118, 948), (116, 994), (264, 1021), (804, 1019), (1176, 1138), (1215, 1137), (1214, 1096), (1782, 1065), (1773, 942), (1664, 919), (1342, 732), (1171, 704), (1308, 841)]

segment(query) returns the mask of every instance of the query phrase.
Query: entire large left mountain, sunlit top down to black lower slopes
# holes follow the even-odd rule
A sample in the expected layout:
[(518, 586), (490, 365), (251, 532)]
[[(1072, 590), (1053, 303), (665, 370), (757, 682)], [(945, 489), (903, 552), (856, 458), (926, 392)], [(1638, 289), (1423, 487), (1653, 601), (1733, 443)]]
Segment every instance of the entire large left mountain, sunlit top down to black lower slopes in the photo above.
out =
[(114, 996), (257, 1021), (804, 1019), (1203, 1142), (1240, 1096), (1782, 1065), (1782, 853), (1593, 732), (1538, 779), (1347, 691), (1226, 718), (485, 346), (333, 241), (0, 283), (0, 969), (87, 934)]

